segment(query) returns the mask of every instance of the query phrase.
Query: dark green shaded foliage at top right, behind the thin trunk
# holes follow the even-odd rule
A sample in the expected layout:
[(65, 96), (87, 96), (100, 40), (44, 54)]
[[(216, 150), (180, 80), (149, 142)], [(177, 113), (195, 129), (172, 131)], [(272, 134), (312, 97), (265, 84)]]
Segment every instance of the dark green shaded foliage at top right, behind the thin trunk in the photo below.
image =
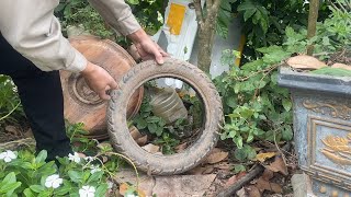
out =
[[(286, 27), (297, 31), (307, 26), (308, 3), (303, 0), (238, 0), (236, 8), (247, 35), (246, 59), (261, 57), (257, 48), (282, 45)], [(328, 13), (327, 3), (321, 1), (319, 19)]]

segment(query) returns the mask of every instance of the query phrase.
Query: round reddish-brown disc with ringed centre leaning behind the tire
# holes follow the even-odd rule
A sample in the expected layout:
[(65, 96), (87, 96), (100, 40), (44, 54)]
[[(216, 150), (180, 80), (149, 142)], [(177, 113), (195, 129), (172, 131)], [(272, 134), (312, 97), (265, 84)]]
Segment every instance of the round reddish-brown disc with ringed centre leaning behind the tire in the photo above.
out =
[[(117, 44), (99, 39), (93, 36), (78, 36), (70, 38), (70, 44), (89, 61), (104, 68), (117, 82), (133, 66), (134, 59)], [(65, 118), (69, 123), (83, 123), (89, 131), (87, 137), (105, 139), (106, 132), (106, 102), (100, 100), (92, 92), (84, 79), (77, 73), (60, 72), (65, 100)], [(135, 91), (127, 106), (127, 118), (133, 117), (139, 109), (144, 89)]]

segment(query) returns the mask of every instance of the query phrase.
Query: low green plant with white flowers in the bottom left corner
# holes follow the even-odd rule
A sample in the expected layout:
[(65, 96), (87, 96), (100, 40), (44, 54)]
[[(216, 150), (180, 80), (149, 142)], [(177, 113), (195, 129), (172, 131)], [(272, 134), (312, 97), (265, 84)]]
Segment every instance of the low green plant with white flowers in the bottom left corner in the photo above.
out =
[[(36, 157), (29, 150), (0, 151), (0, 196), (48, 197), (104, 196), (109, 189), (109, 170), (92, 157), (81, 159), (77, 153), (45, 162), (46, 151)], [(21, 196), (20, 195), (20, 196)]]

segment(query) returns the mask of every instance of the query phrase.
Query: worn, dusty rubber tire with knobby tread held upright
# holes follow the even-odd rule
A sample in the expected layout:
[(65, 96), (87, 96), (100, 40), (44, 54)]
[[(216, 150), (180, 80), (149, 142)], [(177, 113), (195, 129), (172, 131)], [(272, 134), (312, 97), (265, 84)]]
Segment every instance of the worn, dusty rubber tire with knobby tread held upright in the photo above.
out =
[[(127, 128), (126, 106), (133, 92), (145, 82), (157, 78), (176, 78), (190, 84), (204, 104), (204, 130), (183, 152), (172, 155), (152, 154), (141, 149)], [(222, 102), (208, 77), (185, 61), (167, 58), (162, 66), (144, 61), (133, 67), (120, 81), (120, 89), (112, 91), (107, 108), (107, 130), (116, 151), (129, 158), (141, 171), (155, 175), (180, 174), (201, 163), (218, 140), (223, 121)]]

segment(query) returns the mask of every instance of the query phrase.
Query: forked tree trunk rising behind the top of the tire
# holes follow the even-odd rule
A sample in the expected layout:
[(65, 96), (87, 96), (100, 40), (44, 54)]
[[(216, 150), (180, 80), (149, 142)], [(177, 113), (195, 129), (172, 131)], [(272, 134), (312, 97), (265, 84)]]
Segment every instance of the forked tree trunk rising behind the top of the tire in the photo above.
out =
[(199, 56), (197, 67), (204, 72), (210, 72), (212, 48), (216, 34), (217, 15), (222, 0), (206, 0), (207, 12), (204, 15), (201, 0), (194, 0), (196, 20), (199, 24)]

